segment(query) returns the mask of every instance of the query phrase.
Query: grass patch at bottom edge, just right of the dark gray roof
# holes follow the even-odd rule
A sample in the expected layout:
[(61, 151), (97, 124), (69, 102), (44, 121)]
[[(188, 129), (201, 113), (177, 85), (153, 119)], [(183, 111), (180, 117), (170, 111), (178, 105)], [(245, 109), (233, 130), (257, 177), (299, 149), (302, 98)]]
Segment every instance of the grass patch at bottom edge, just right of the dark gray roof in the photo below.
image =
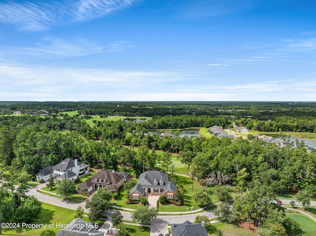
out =
[(214, 227), (214, 229), (212, 233), (209, 234), (210, 236), (217, 236), (217, 233), (216, 233), (217, 230), (221, 230), (224, 233), (224, 235), (227, 235), (227, 236), (253, 236), (253, 234), (238, 227), (235, 224), (216, 222), (212, 224), (212, 226)]

